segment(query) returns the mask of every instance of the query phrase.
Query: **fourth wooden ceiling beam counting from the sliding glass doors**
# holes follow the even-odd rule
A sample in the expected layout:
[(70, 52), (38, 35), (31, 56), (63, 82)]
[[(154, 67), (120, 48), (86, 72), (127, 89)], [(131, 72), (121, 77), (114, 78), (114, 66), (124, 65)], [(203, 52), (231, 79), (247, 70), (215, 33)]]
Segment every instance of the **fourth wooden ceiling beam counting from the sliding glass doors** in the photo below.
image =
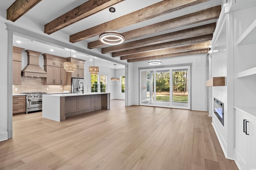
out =
[(166, 34), (162, 34), (154, 37), (140, 39), (137, 41), (131, 41), (131, 42), (123, 43), (120, 45), (112, 45), (110, 47), (102, 48), (101, 53), (102, 54), (114, 53), (117, 51), (134, 49), (138, 47), (145, 47), (148, 45), (154, 45), (154, 44), (164, 43), (168, 41), (175, 41), (179, 39), (206, 35), (209, 33), (214, 33), (215, 27), (216, 27), (216, 23), (210, 23), (207, 25), (201, 25), (198, 27), (183, 29), (180, 31), (172, 32), (172, 33), (166, 33)]

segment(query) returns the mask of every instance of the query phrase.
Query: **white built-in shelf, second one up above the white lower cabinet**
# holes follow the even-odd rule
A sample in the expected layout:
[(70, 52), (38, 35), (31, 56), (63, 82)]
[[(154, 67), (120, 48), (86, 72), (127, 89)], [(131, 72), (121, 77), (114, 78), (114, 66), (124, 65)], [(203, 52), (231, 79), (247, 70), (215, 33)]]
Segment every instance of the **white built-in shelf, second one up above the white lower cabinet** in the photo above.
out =
[(256, 20), (244, 31), (244, 33), (236, 41), (237, 45), (256, 43)]

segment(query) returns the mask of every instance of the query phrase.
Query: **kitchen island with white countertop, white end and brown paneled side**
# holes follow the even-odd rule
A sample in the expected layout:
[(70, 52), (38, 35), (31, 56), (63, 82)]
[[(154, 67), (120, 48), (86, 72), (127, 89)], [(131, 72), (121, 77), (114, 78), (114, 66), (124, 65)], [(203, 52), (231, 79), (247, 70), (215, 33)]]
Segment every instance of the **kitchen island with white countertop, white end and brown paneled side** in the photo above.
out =
[(43, 95), (42, 117), (64, 121), (66, 117), (100, 109), (110, 109), (110, 93), (70, 93)]

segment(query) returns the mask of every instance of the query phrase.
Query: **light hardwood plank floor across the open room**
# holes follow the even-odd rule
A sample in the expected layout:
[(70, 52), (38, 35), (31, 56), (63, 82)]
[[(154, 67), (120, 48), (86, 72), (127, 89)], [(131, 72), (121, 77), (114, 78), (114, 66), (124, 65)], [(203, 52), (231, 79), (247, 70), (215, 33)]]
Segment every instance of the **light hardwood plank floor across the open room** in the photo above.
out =
[(15, 115), (0, 142), (0, 170), (238, 170), (204, 111), (124, 106), (56, 122)]

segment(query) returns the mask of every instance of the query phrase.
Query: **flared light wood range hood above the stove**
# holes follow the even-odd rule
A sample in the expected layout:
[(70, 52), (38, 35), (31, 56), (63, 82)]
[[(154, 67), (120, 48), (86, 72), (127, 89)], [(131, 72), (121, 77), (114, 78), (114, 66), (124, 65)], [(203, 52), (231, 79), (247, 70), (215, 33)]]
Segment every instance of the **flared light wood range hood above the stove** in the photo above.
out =
[(21, 71), (21, 76), (46, 77), (46, 72), (39, 66), (40, 52), (26, 50), (28, 65)]

